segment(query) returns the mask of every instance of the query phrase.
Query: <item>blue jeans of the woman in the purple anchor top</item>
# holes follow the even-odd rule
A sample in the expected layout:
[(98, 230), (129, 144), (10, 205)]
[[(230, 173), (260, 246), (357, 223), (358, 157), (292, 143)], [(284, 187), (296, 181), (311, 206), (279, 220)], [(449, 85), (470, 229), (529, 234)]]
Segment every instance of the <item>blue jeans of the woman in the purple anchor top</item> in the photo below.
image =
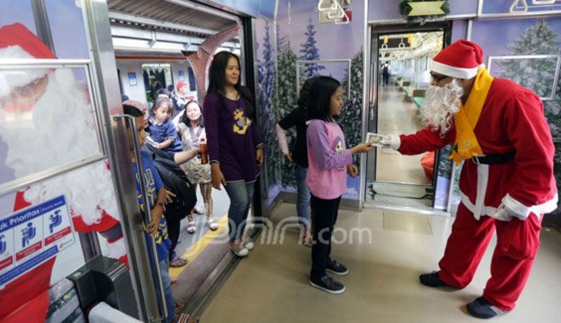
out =
[(227, 182), (224, 186), (230, 198), (228, 232), (231, 242), (241, 240), (249, 207), (253, 200), (253, 186), (253, 182), (246, 183), (245, 181)]

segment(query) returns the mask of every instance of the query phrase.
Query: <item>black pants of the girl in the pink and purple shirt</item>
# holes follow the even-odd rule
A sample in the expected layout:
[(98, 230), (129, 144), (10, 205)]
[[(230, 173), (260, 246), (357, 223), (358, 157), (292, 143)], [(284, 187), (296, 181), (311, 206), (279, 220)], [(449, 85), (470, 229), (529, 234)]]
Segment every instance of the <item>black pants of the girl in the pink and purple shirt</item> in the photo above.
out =
[(325, 267), (330, 261), (331, 236), (337, 222), (341, 196), (333, 200), (324, 200), (311, 195), (310, 207), (314, 214), (314, 246), (312, 246), (312, 270), (310, 278), (320, 279), (325, 276)]

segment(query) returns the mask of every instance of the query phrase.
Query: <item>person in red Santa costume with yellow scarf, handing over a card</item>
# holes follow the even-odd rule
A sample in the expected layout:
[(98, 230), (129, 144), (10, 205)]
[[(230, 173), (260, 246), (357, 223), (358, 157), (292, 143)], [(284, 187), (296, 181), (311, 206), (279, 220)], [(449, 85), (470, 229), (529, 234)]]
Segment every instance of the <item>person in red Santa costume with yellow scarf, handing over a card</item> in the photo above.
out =
[(431, 62), (421, 110), (427, 128), (383, 143), (405, 155), (452, 144), (450, 159), (463, 161), (461, 203), (440, 270), (419, 279), (430, 287), (466, 287), (496, 230), (491, 278), (467, 304), (472, 316), (487, 319), (514, 308), (540, 245), (542, 215), (557, 207), (557, 188), (540, 98), (489, 75), (482, 58), (481, 47), (467, 40), (443, 49)]

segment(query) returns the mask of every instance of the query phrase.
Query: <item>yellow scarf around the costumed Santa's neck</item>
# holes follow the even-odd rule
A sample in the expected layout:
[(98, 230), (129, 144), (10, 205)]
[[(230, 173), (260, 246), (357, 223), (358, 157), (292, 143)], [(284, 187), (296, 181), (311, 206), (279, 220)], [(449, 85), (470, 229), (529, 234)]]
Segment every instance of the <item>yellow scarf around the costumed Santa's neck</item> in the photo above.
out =
[(492, 82), (493, 76), (489, 74), (485, 67), (481, 68), (477, 72), (466, 104), (460, 107), (459, 111), (454, 114), (456, 141), (454, 142), (450, 159), (454, 160), (458, 165), (462, 163), (462, 160), (483, 155), (473, 129), (477, 124), (477, 120), (479, 120), (481, 109)]

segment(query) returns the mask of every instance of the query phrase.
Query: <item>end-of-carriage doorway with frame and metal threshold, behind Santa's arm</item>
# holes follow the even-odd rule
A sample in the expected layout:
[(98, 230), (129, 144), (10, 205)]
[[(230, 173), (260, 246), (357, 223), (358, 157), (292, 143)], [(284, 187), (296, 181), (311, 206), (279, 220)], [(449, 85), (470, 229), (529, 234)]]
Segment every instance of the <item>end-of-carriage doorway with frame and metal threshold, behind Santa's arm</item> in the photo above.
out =
[[(424, 128), (419, 109), (430, 86), (430, 61), (447, 43), (449, 26), (373, 26), (372, 30), (368, 131), (415, 133)], [(432, 210), (437, 203), (439, 161), (438, 151), (404, 156), (384, 148), (369, 154), (366, 204)]]

